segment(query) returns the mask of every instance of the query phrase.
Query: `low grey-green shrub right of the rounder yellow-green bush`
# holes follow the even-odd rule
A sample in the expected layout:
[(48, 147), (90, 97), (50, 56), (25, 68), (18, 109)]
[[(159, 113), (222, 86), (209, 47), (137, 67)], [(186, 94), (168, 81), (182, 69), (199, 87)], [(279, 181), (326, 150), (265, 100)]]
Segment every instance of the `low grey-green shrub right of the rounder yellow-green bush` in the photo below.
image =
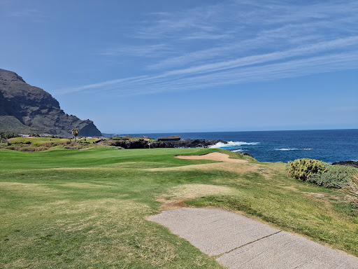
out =
[(357, 168), (343, 165), (327, 165), (321, 174), (312, 174), (308, 181), (327, 188), (343, 188), (357, 173)]

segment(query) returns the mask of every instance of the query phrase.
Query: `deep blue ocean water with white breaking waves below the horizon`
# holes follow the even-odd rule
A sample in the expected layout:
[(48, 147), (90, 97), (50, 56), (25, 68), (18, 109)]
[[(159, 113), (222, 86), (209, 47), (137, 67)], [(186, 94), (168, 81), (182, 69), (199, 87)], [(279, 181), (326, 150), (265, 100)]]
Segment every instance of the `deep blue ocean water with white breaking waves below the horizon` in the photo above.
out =
[(358, 129), (299, 130), (257, 132), (176, 132), (130, 134), (152, 138), (180, 135), (182, 139), (222, 139), (229, 144), (214, 147), (229, 151), (244, 151), (261, 162), (288, 162), (298, 158), (313, 158), (334, 163), (358, 161)]

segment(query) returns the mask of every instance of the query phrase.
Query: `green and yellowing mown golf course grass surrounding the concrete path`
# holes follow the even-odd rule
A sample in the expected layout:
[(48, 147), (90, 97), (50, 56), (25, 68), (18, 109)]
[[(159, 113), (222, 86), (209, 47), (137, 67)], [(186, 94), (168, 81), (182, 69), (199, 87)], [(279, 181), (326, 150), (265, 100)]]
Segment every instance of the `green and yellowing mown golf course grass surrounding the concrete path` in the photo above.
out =
[(186, 184), (233, 190), (190, 205), (239, 210), (358, 256), (358, 218), (341, 191), (287, 178), (282, 163), (241, 171), (241, 163), (211, 169), (210, 160), (173, 158), (212, 151), (224, 152), (0, 150), (0, 268), (222, 268), (145, 219), (159, 212), (158, 197)]

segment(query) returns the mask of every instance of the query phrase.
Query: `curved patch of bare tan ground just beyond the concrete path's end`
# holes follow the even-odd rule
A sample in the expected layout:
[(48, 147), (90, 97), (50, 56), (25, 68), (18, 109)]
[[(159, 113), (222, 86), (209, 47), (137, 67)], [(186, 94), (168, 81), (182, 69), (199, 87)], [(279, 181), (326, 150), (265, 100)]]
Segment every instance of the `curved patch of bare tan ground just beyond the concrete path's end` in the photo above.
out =
[(217, 194), (230, 194), (233, 191), (226, 186), (216, 186), (209, 184), (185, 184), (175, 188), (170, 188), (166, 194), (157, 198), (162, 202), (160, 210), (176, 209), (184, 206), (186, 200)]

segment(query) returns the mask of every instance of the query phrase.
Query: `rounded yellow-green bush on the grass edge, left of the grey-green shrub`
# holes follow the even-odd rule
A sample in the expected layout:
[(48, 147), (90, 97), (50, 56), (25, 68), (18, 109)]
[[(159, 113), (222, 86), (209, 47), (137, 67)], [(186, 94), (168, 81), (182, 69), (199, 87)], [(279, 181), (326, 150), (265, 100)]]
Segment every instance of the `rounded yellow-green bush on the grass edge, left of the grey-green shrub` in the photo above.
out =
[(312, 174), (320, 174), (327, 170), (328, 163), (321, 160), (313, 160), (308, 158), (298, 159), (287, 163), (288, 174), (295, 179), (306, 181), (310, 179)]

